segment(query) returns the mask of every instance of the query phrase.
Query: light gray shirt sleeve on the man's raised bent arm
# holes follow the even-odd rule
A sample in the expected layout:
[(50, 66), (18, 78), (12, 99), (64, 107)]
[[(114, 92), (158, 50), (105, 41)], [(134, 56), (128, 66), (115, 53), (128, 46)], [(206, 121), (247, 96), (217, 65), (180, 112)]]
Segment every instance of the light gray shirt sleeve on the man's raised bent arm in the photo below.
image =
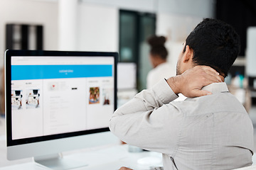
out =
[(183, 120), (181, 110), (170, 103), (176, 98), (166, 80), (159, 81), (113, 113), (111, 132), (129, 145), (172, 154)]

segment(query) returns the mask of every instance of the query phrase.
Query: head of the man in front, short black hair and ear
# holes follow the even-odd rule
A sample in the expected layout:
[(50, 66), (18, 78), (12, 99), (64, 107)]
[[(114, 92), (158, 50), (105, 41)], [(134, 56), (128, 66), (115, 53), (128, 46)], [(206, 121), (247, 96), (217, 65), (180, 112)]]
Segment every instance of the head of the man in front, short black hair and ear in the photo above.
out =
[(240, 38), (232, 26), (206, 18), (188, 35), (178, 58), (176, 74), (196, 65), (207, 65), (223, 77), (240, 51)]

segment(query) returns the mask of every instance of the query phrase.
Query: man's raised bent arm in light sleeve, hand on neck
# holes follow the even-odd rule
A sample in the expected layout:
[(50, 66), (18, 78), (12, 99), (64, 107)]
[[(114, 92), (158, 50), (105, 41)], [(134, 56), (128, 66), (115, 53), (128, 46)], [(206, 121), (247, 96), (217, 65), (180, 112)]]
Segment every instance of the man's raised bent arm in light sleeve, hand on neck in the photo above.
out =
[(171, 154), (176, 147), (183, 114), (170, 102), (178, 93), (188, 97), (210, 94), (201, 91), (202, 87), (219, 81), (214, 69), (202, 66), (160, 81), (118, 108), (110, 120), (110, 130), (130, 145), (161, 153), (169, 150), (166, 154)]

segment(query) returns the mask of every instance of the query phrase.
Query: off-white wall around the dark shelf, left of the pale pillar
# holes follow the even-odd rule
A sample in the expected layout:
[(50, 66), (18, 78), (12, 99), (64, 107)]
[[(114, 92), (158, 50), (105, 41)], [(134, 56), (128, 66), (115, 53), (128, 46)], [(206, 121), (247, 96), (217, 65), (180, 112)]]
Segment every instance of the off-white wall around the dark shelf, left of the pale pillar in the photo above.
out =
[(4, 65), (6, 23), (41, 24), (43, 47), (58, 47), (58, 4), (52, 1), (1, 0), (0, 1), (0, 68)]

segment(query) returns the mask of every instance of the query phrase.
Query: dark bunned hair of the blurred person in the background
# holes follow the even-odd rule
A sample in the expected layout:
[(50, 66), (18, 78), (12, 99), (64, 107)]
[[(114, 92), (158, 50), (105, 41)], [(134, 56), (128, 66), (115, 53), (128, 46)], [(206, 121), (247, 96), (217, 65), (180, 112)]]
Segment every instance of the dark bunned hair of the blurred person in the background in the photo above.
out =
[(151, 55), (158, 55), (161, 59), (166, 60), (168, 52), (166, 47), (164, 47), (164, 42), (166, 42), (166, 38), (164, 36), (151, 36), (147, 42), (151, 46), (150, 53)]

